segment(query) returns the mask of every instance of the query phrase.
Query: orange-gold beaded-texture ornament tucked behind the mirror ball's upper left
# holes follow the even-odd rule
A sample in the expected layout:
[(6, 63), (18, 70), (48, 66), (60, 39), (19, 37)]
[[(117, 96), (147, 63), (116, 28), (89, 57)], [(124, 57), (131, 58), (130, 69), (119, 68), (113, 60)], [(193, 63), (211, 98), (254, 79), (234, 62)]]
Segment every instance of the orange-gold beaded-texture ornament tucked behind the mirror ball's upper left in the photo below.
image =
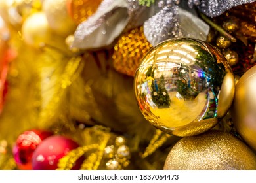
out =
[(124, 33), (114, 46), (113, 65), (119, 73), (134, 76), (141, 59), (152, 48), (147, 41), (143, 27)]

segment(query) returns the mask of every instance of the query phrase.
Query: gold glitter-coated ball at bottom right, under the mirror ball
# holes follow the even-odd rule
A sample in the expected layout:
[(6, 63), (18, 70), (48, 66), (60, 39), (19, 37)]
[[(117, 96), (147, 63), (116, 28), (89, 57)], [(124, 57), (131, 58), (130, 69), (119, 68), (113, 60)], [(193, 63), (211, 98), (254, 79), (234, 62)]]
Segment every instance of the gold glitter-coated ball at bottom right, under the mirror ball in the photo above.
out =
[(207, 131), (184, 137), (169, 152), (165, 170), (251, 170), (256, 169), (253, 151), (223, 131)]

